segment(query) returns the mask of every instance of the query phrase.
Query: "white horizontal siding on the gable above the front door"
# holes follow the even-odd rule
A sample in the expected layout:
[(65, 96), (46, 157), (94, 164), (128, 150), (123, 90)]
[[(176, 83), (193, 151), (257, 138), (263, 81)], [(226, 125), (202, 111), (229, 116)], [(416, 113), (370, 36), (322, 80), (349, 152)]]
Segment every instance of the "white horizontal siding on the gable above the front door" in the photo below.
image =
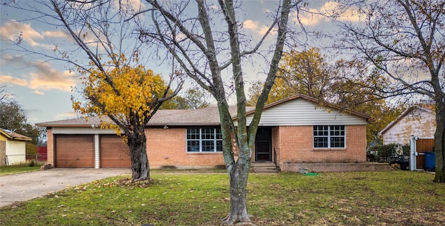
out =
[[(248, 115), (247, 123), (252, 121)], [(322, 107), (306, 99), (293, 99), (267, 108), (261, 114), (259, 126), (300, 126), (300, 125), (361, 125), (366, 118), (340, 112), (334, 108)]]

